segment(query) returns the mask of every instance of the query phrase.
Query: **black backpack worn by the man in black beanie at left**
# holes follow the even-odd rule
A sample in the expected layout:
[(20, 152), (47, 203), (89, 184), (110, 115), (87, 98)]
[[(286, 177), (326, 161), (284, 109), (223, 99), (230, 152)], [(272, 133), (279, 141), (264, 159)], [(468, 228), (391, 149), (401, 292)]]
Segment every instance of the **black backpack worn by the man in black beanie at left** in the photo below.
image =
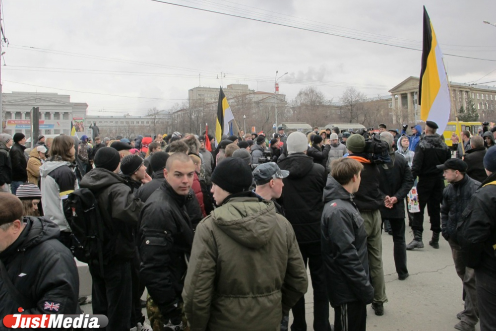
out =
[(97, 198), (89, 189), (78, 189), (69, 194), (67, 204), (72, 254), (88, 265), (100, 265), (103, 273), (104, 223)]

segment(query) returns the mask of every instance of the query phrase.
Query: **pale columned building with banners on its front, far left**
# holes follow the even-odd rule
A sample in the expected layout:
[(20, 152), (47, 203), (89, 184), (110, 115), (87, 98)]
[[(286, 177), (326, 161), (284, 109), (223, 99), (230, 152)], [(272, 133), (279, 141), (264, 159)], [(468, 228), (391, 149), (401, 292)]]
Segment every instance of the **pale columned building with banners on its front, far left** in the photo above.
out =
[(40, 109), (40, 134), (70, 134), (71, 121), (82, 122), (88, 105), (58, 93), (2, 93), (2, 132), (21, 132), (29, 138), (33, 107)]

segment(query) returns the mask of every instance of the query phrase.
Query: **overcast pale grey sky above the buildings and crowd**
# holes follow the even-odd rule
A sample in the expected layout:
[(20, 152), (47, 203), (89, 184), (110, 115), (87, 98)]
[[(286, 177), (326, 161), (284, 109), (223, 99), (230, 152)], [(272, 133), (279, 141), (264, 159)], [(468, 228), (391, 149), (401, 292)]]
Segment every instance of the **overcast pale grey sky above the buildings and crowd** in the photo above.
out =
[[(170, 2), (414, 49), (422, 48), (425, 4), (443, 53), (496, 60), (496, 26), (483, 23), (496, 22), (495, 0)], [(3, 92), (70, 94), (72, 102), (88, 103), (92, 115), (170, 109), (200, 84), (200, 74), (201, 86), (219, 87), (225, 75), (224, 87), (273, 91), (278, 70), (288, 72), (279, 80), (288, 100), (313, 85), (339, 101), (347, 86), (369, 97), (387, 95), (420, 72), (416, 50), (152, 0), (2, 3), (9, 41), (2, 49)], [(444, 63), (454, 82), (496, 80), (495, 61), (446, 55)]]

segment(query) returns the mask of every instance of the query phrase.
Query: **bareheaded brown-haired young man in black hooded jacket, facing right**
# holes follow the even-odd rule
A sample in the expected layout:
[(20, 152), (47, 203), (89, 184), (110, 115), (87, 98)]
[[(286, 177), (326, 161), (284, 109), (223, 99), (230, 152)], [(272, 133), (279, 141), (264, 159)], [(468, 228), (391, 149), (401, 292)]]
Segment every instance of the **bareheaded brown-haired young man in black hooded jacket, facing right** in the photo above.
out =
[(336, 331), (365, 331), (367, 305), (374, 296), (367, 232), (353, 200), (362, 169), (363, 165), (352, 158), (334, 160), (323, 194), (322, 255)]

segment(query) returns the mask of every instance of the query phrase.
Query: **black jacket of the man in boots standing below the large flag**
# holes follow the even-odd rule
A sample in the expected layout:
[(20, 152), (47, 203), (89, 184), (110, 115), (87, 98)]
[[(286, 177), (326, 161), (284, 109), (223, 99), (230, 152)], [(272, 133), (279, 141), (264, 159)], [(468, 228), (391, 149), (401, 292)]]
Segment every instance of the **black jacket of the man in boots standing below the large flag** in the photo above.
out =
[(449, 147), (438, 135), (426, 135), (415, 148), (413, 157), (413, 178), (442, 177), (442, 170), (437, 166), (451, 158)]

